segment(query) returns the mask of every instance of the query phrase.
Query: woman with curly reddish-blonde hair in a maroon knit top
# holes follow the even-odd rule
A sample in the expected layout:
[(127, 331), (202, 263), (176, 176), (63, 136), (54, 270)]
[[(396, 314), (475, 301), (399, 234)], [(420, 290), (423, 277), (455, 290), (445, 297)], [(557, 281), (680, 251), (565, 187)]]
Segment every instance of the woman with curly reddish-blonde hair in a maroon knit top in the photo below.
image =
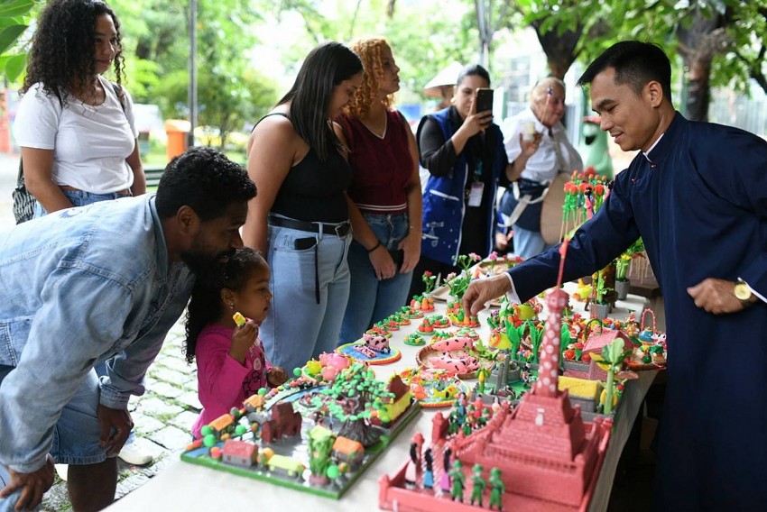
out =
[(365, 75), (337, 119), (354, 173), (348, 196), (355, 237), (339, 343), (355, 341), (405, 303), (420, 257), (418, 147), (408, 122), (392, 108), (400, 69), (384, 39), (356, 41), (351, 48)]

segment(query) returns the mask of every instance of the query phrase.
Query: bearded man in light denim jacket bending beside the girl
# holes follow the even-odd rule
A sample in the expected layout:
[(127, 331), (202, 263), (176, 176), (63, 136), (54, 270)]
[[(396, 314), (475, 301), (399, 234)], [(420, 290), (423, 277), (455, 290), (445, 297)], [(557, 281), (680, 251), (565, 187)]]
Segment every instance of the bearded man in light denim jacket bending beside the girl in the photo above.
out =
[[(156, 195), (0, 232), (0, 511), (38, 506), (53, 459), (69, 464), (76, 510), (112, 502), (128, 398), (143, 394), (192, 274), (242, 247), (254, 196), (245, 169), (195, 148)], [(99, 382), (93, 366), (110, 359)]]

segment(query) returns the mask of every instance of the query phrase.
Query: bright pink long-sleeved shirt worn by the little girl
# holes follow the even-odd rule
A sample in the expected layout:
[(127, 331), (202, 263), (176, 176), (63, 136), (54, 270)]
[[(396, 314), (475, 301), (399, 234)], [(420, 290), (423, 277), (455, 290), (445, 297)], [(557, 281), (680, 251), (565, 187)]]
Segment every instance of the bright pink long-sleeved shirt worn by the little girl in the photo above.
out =
[(198, 394), (204, 408), (192, 427), (196, 439), (204, 425), (228, 413), (232, 407), (242, 407), (245, 398), (268, 386), (266, 371), (270, 365), (260, 340), (258, 347), (248, 352), (245, 365), (242, 365), (228, 353), (233, 333), (232, 328), (209, 324), (197, 338)]

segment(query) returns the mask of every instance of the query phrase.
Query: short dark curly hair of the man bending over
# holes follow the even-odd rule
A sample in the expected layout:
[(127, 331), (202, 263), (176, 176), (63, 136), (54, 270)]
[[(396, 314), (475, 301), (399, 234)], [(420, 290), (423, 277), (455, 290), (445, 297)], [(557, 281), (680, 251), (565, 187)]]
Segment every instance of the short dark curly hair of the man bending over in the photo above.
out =
[(202, 221), (224, 215), (232, 203), (255, 197), (255, 184), (243, 166), (212, 148), (195, 147), (171, 160), (162, 172), (155, 206), (161, 218), (191, 207)]

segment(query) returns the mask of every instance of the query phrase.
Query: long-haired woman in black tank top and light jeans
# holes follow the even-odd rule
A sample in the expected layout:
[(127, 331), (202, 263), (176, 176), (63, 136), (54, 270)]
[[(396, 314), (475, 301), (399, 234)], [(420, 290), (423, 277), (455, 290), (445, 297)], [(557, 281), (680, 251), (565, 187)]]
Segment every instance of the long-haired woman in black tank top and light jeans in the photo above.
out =
[(272, 266), (274, 295), (260, 336), (270, 361), (289, 370), (336, 348), (347, 304), (352, 174), (331, 119), (361, 81), (354, 52), (320, 44), (248, 142), (247, 169), (258, 194), (243, 240)]

